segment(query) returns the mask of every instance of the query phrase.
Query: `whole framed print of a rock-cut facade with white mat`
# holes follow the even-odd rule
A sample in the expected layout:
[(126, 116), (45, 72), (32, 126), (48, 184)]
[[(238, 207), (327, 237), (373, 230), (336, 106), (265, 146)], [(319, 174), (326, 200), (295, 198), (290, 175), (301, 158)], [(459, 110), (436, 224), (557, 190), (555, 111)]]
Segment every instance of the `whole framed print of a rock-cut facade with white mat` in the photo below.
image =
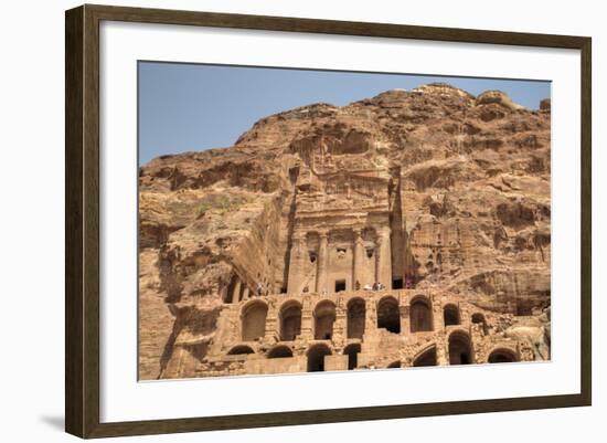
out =
[(66, 12), (66, 431), (589, 405), (590, 39)]

